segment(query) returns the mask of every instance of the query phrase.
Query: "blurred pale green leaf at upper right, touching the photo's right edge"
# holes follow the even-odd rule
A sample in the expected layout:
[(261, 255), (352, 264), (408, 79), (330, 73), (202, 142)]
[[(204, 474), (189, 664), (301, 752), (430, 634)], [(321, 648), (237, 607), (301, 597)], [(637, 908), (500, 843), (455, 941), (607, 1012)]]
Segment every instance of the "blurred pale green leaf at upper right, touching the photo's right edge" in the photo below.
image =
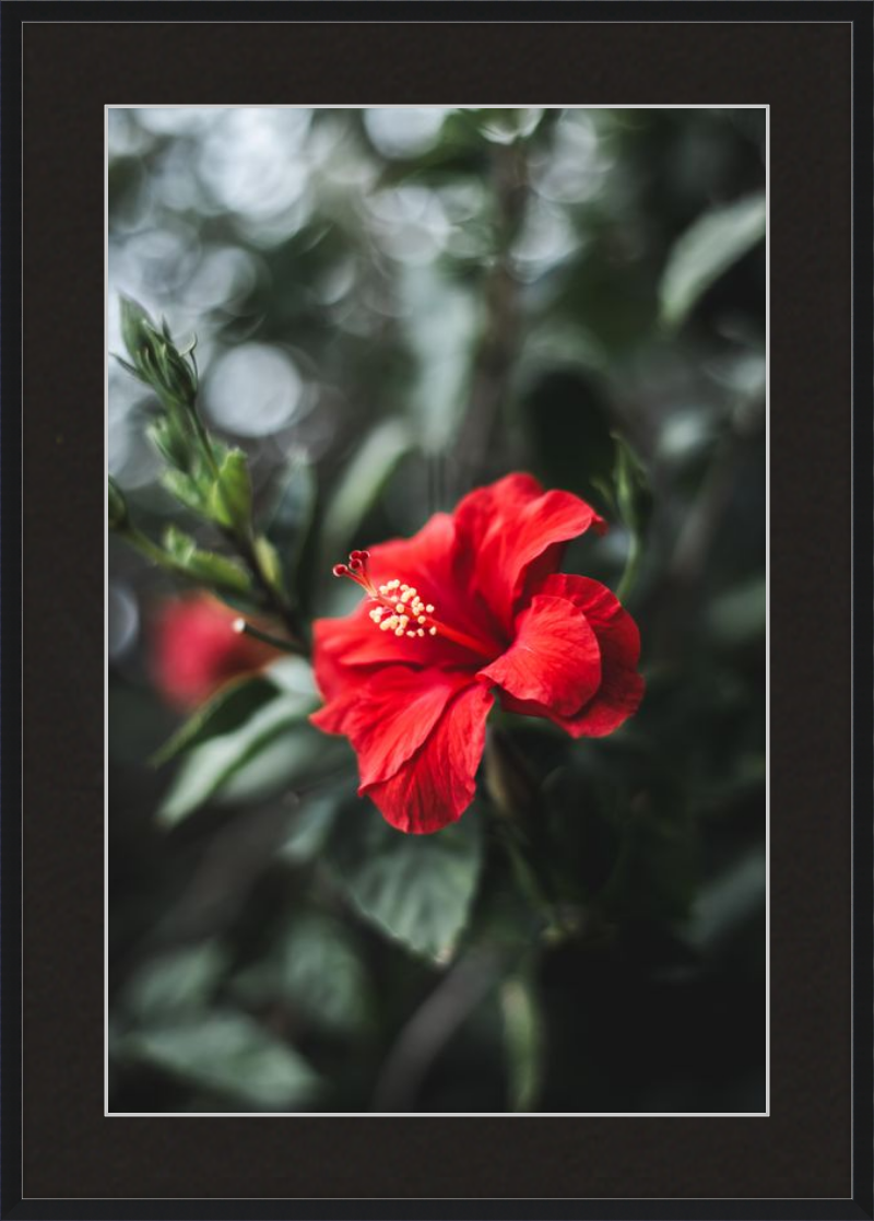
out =
[(765, 221), (763, 194), (699, 216), (668, 256), (659, 286), (663, 322), (679, 326), (710, 284), (762, 241)]

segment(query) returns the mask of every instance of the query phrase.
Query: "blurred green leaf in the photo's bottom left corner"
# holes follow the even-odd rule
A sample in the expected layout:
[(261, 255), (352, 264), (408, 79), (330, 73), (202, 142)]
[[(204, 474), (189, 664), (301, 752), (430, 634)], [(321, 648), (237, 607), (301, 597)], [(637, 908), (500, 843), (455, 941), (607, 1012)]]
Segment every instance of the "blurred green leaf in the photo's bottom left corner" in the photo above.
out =
[(299, 1106), (319, 1088), (303, 1056), (232, 1010), (137, 1031), (120, 1040), (120, 1051), (256, 1107)]

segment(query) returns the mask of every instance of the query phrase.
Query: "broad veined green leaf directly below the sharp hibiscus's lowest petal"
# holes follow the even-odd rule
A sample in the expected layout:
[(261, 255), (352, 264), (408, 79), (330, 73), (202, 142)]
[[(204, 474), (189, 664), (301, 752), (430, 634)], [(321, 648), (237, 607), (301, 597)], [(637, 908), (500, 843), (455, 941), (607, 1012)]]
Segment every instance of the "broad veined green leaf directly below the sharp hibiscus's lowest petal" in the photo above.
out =
[(328, 860), (365, 919), (415, 954), (452, 956), (482, 864), (474, 811), (433, 835), (405, 835), (370, 803), (355, 802), (334, 827)]

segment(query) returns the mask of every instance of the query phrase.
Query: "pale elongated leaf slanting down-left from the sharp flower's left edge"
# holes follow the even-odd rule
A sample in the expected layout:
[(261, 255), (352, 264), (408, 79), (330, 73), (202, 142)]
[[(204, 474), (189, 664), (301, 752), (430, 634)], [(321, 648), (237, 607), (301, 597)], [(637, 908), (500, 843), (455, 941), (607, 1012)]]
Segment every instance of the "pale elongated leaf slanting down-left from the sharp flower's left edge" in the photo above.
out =
[(280, 696), (231, 734), (211, 737), (194, 750), (173, 777), (157, 812), (167, 827), (181, 822), (227, 784), (244, 763), (306, 716), (300, 700)]

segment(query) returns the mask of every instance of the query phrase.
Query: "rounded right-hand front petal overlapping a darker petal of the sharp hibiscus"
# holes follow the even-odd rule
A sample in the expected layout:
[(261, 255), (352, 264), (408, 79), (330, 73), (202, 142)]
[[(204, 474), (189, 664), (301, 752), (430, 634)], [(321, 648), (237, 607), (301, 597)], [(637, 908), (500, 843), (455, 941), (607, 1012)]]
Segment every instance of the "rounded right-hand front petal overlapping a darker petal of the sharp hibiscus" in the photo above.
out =
[(572, 602), (537, 595), (518, 617), (510, 648), (480, 674), (518, 700), (571, 716), (601, 686), (601, 650)]

